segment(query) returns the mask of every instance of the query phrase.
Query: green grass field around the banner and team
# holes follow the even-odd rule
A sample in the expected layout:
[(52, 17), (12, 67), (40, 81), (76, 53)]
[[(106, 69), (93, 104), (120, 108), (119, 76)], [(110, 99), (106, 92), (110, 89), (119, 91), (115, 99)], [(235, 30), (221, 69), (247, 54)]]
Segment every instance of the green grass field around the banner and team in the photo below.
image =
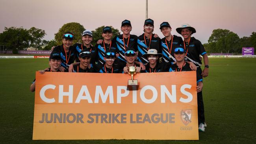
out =
[(35, 71), (47, 59), (0, 59), (0, 144), (252, 144), (256, 140), (256, 59), (210, 59), (204, 78), (206, 132), (191, 140), (32, 140)]

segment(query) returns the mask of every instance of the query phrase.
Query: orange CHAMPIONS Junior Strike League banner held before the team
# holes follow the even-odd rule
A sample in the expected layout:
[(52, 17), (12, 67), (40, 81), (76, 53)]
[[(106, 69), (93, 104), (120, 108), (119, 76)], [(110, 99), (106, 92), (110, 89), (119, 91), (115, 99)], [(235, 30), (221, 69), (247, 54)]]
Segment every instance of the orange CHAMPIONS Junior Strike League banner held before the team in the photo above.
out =
[(33, 140), (198, 140), (196, 72), (36, 72)]

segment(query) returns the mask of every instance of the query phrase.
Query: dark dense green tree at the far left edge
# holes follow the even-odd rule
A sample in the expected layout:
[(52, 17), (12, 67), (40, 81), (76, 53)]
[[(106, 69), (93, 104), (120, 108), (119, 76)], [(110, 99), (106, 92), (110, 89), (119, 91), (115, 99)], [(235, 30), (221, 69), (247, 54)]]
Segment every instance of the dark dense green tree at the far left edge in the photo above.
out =
[(22, 50), (29, 46), (31, 36), (28, 30), (20, 27), (4, 28), (3, 33), (0, 34), (0, 41), (8, 49), (12, 49), (14, 54), (18, 53), (18, 50)]

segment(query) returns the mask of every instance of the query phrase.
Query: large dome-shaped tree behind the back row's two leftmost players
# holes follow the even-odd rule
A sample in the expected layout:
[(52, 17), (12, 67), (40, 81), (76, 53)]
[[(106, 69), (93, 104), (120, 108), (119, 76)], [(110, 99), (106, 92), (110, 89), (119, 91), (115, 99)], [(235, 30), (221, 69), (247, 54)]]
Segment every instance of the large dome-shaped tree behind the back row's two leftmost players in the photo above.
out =
[(74, 34), (74, 40), (73, 43), (81, 43), (82, 42), (82, 33), (85, 30), (83, 28), (83, 25), (79, 24), (78, 22), (70, 22), (67, 24), (64, 24), (58, 31), (58, 33), (55, 33), (55, 39), (57, 44), (62, 44), (62, 37), (63, 33), (65, 32), (72, 32)]

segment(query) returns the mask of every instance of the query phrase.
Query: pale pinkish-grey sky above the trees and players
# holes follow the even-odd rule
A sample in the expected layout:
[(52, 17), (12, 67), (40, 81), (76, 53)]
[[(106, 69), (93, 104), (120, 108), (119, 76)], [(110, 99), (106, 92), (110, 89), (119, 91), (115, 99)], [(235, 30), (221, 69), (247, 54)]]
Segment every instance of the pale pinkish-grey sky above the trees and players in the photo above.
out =
[[(239, 37), (256, 32), (256, 0), (148, 0), (148, 18), (154, 20), (154, 33), (163, 21), (176, 28), (188, 23), (197, 30), (193, 36), (208, 42), (212, 31), (228, 29)], [(0, 32), (4, 27), (31, 27), (46, 31), (46, 40), (68, 22), (78, 22), (85, 29), (113, 26), (120, 30), (121, 22), (132, 23), (132, 34), (143, 33), (146, 0), (0, 0)]]

